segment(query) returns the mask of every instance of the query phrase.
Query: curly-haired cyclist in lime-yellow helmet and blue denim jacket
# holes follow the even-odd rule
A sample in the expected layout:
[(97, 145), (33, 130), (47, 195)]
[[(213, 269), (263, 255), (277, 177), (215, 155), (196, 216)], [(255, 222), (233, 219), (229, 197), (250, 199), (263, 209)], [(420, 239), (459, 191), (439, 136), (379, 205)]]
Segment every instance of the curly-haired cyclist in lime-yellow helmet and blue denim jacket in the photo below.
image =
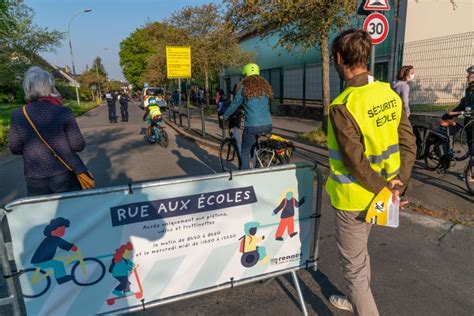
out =
[(237, 85), (236, 95), (224, 112), (224, 120), (242, 105), (245, 111), (245, 127), (242, 136), (242, 169), (249, 168), (250, 149), (255, 145), (255, 136), (270, 133), (272, 117), (270, 115), (270, 98), (273, 95), (270, 84), (260, 76), (257, 64), (244, 66), (244, 79)]

